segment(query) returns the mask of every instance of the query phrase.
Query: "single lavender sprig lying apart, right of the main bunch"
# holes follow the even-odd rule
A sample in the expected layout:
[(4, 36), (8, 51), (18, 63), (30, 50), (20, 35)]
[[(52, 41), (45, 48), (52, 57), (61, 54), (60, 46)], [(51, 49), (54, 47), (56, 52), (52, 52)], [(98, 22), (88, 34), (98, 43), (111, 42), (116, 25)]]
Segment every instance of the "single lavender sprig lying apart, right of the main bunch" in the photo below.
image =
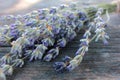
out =
[[(88, 52), (88, 47), (91, 41), (95, 40), (102, 40), (104, 44), (107, 44), (109, 36), (105, 32), (106, 22), (103, 21), (101, 15), (103, 13), (103, 9), (98, 9), (96, 13), (96, 17), (94, 18), (93, 22), (90, 23), (89, 29), (86, 30), (85, 34), (83, 35), (83, 39), (80, 39), (80, 48), (75, 53), (74, 58), (65, 57), (63, 62), (55, 62), (53, 67), (57, 72), (63, 71), (72, 71), (76, 67), (78, 67), (83, 59), (83, 56), (86, 52)], [(90, 39), (91, 36), (91, 29), (95, 30), (95, 35)]]

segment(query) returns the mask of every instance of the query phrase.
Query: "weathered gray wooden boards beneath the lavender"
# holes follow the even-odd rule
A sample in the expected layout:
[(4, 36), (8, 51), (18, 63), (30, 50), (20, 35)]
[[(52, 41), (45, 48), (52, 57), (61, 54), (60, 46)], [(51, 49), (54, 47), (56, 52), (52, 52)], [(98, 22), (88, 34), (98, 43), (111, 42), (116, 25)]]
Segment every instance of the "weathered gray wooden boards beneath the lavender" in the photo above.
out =
[[(80, 33), (61, 50), (57, 59), (52, 62), (26, 62), (23, 68), (15, 69), (13, 76), (8, 76), (7, 80), (120, 80), (120, 15), (113, 13), (110, 16), (107, 28), (109, 45), (104, 46), (102, 42), (90, 44), (81, 65), (72, 72), (57, 73), (52, 64), (65, 55), (74, 55), (79, 47)], [(9, 47), (1, 47), (0, 55), (9, 50)]]

